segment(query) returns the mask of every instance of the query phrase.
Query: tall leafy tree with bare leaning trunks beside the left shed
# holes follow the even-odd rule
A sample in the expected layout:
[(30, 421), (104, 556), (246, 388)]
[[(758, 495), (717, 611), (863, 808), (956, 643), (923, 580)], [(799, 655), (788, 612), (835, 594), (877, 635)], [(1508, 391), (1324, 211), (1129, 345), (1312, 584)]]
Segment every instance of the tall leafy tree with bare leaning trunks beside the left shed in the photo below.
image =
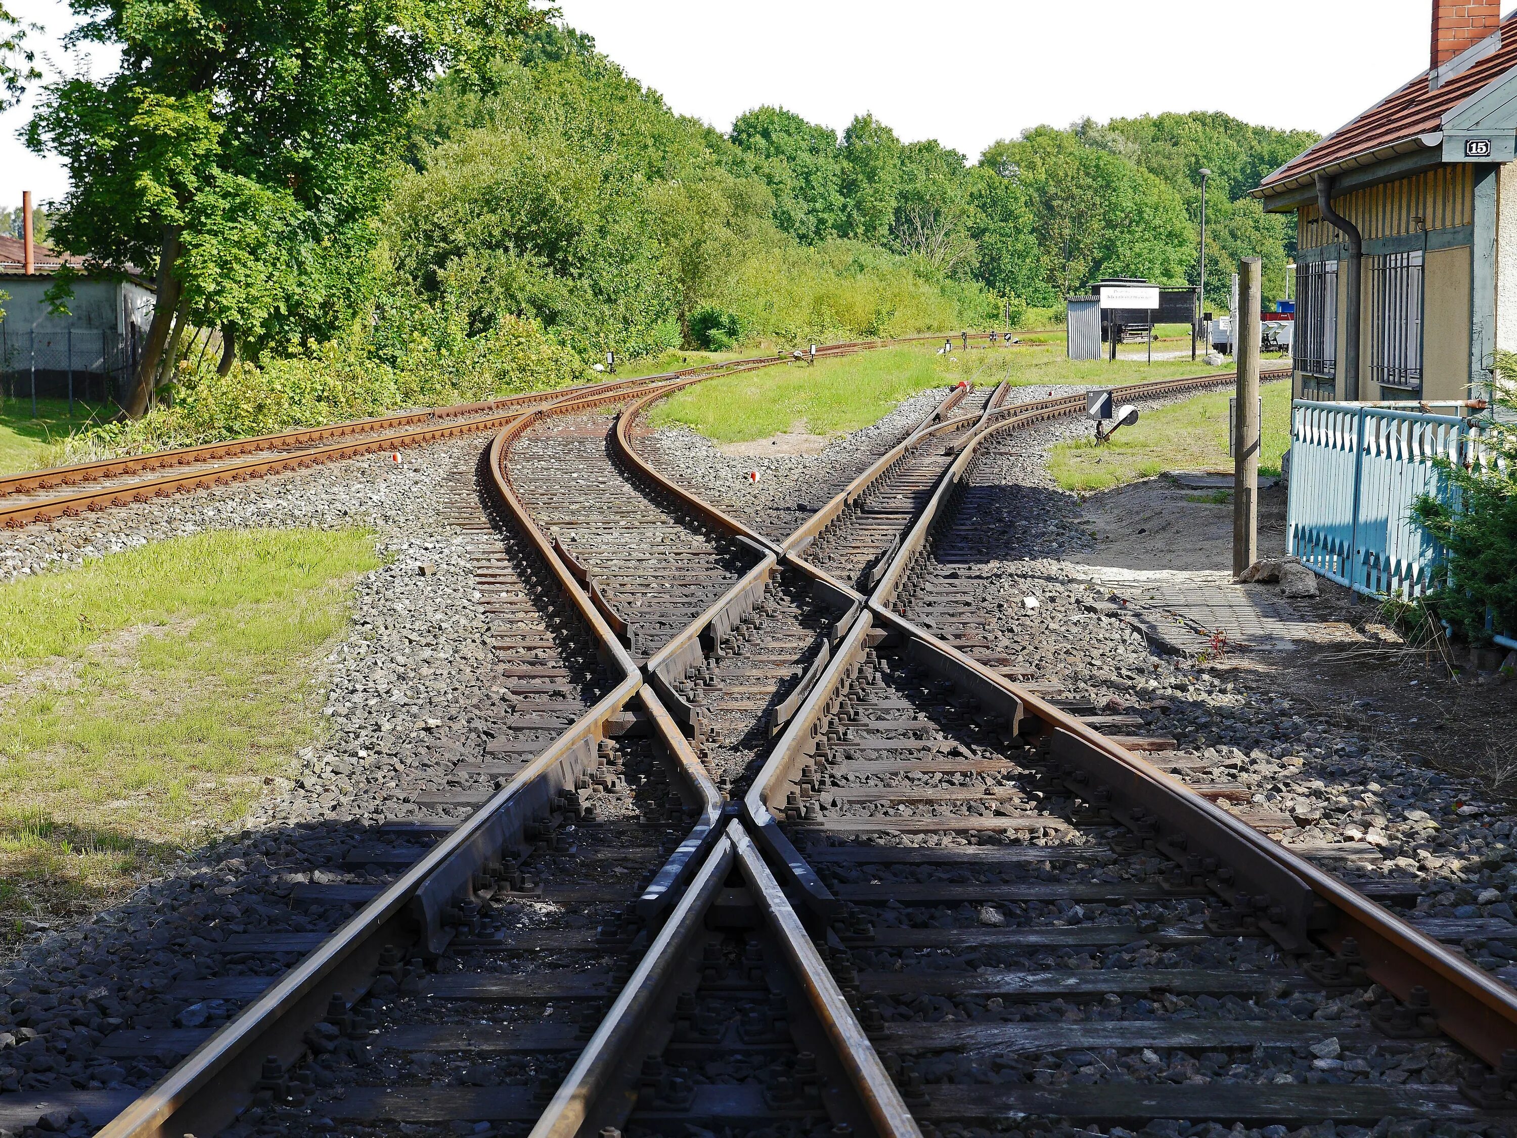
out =
[(287, 334), (332, 334), (313, 317), (343, 305), (302, 270), (375, 214), (417, 94), (546, 15), (528, 0), (71, 3), (74, 39), (120, 46), (121, 65), (46, 86), (27, 143), (70, 167), (56, 240), (96, 267), (156, 273), (130, 417), (194, 325), (259, 343), (282, 313)]

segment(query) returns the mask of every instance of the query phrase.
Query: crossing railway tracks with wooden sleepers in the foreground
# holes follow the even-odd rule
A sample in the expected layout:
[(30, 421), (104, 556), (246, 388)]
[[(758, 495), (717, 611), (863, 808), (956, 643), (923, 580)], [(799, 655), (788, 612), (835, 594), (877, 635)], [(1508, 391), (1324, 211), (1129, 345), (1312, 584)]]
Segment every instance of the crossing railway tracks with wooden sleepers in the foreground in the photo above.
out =
[(1517, 997), (1405, 898), (954, 634), (974, 613), (931, 542), (977, 448), (1083, 399), (965, 391), (774, 542), (639, 457), (667, 390), (526, 411), (484, 467), (539, 574), (501, 589), (502, 646), (561, 598), (599, 703), (557, 737), (507, 724), (540, 753), (102, 1133), (1514, 1118)]

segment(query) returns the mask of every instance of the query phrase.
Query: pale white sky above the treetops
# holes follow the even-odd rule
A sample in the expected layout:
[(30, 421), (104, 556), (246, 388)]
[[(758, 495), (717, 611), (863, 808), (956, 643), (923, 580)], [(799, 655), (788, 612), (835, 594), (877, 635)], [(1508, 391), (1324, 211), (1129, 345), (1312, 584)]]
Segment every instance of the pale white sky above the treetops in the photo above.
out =
[[(724, 130), (762, 103), (839, 130), (868, 111), (906, 141), (936, 138), (971, 161), (998, 138), (1085, 115), (1226, 111), (1326, 134), (1427, 67), (1431, 20), (1431, 0), (558, 5), (675, 111)], [(47, 29), (35, 36), (47, 77), (114, 67), (109, 53), (79, 59), (58, 46), (71, 26), (64, 0), (9, 6)], [(0, 203), (20, 203), (27, 188), (55, 199), (68, 187), (56, 158), (15, 137), (29, 102), (0, 115)]]

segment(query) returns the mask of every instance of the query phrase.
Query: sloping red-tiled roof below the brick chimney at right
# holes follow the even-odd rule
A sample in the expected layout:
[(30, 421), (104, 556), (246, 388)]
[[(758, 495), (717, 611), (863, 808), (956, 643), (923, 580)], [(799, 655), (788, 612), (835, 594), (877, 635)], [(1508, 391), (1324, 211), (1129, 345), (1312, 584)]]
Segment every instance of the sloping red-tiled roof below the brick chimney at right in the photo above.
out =
[(1271, 173), (1256, 193), (1270, 197), (1303, 185), (1323, 170), (1367, 165), (1437, 146), (1441, 140), (1434, 135), (1441, 134), (1450, 115), (1517, 68), (1517, 12), (1502, 20), (1491, 39), (1494, 44), (1482, 41), (1467, 53), (1473, 62), (1462, 70), (1459, 59), (1446, 65), (1444, 71), (1455, 73), (1440, 86), (1432, 86), (1431, 70), (1423, 71)]

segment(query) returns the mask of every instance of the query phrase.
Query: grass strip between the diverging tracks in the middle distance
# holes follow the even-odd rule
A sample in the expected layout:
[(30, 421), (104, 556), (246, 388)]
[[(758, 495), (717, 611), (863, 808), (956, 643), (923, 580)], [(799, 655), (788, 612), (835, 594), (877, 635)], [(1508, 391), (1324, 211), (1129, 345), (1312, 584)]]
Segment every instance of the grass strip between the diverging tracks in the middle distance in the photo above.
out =
[[(1069, 361), (1057, 347), (956, 351), (931, 344), (787, 364), (721, 376), (678, 391), (652, 408), (654, 426), (683, 425), (719, 443), (742, 443), (799, 426), (812, 434), (857, 431), (889, 414), (903, 399), (959, 381), (997, 385), (1132, 384), (1209, 372), (1189, 360), (1115, 364)], [(1229, 369), (1220, 369), (1229, 370)]]

